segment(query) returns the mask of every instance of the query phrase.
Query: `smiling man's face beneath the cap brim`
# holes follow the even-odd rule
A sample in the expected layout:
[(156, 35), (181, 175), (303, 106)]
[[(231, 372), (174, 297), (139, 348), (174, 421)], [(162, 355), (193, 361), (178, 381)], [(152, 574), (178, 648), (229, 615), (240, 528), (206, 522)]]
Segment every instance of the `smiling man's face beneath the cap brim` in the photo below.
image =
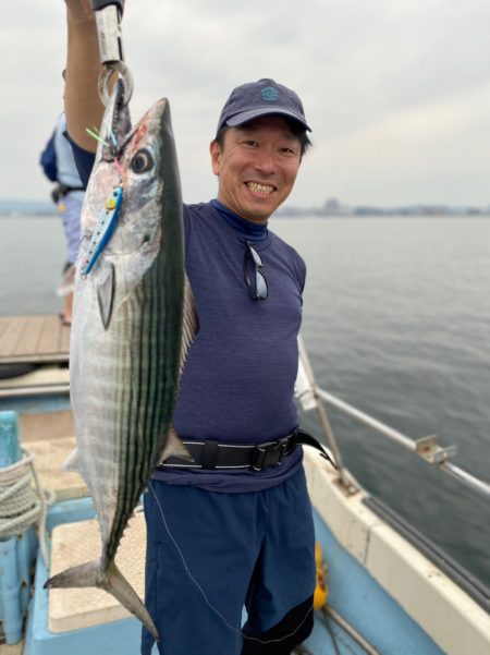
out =
[(299, 138), (278, 116), (229, 128), (210, 146), (218, 199), (242, 218), (265, 222), (290, 195), (301, 163)]

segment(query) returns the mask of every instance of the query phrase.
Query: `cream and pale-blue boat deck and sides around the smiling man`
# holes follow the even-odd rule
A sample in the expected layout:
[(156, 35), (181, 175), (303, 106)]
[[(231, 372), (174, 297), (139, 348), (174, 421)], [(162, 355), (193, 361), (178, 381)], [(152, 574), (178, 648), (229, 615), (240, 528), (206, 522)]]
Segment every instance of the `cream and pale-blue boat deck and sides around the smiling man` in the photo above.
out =
[[(0, 318), (0, 410), (19, 411), (22, 445), (34, 456), (41, 488), (49, 492), (51, 537), (51, 570), (39, 556), (25, 638), (12, 646), (0, 642), (0, 655), (123, 655), (138, 650), (140, 623), (112, 596), (93, 589), (84, 594), (44, 590), (50, 573), (93, 558), (100, 547), (86, 485), (76, 473), (62, 469), (75, 447), (68, 399), (69, 342), (70, 328), (58, 316)], [(23, 367), (34, 371), (23, 374)], [(17, 372), (9, 377), (9, 371)], [(362, 495), (345, 499), (330, 480), (333, 470), (324, 462), (314, 465), (314, 458), (318, 460), (318, 453), (306, 447), (329, 597), (327, 610), (317, 612), (314, 632), (297, 655), (487, 655), (490, 632), (483, 609), (372, 514)], [(121, 543), (119, 563), (127, 566), (125, 573), (139, 595), (144, 546), (145, 524), (137, 512)]]

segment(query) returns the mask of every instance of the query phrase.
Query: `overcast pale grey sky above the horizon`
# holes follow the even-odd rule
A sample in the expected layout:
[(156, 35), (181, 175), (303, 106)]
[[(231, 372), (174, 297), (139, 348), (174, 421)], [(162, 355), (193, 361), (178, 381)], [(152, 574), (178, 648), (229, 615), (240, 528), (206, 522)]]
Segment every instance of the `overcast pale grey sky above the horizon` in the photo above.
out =
[[(314, 148), (290, 205), (490, 205), (489, 0), (126, 0), (136, 120), (172, 107), (186, 202), (216, 194), (208, 145), (233, 86), (303, 99)], [(0, 198), (46, 199), (39, 153), (62, 109), (62, 0), (0, 25)]]

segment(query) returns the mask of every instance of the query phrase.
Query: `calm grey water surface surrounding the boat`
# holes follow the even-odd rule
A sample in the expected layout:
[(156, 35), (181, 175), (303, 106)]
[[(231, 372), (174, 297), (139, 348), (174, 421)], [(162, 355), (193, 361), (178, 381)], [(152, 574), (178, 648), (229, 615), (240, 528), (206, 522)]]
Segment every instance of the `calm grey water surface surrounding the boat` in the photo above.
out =
[[(490, 482), (490, 220), (271, 228), (307, 263), (303, 335), (318, 383), (414, 439), (457, 445), (454, 462)], [(0, 219), (0, 253), (1, 314), (58, 312), (59, 219)], [(490, 585), (490, 504), (353, 420), (330, 419), (362, 484)], [(304, 424), (318, 434), (314, 416)]]

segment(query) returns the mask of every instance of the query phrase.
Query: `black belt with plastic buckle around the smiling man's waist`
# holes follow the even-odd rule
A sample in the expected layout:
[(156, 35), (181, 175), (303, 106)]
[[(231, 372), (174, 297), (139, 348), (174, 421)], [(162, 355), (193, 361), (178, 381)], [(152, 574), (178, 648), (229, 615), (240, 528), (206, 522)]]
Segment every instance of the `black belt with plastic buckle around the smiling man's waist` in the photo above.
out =
[(291, 454), (298, 444), (308, 444), (320, 454), (328, 459), (335, 468), (336, 464), (323, 446), (304, 429), (295, 429), (291, 434), (264, 444), (230, 444), (216, 439), (198, 441), (194, 439), (182, 439), (189, 451), (193, 461), (180, 457), (170, 457), (163, 460), (159, 469), (213, 469), (233, 470), (249, 469), (250, 471), (264, 471), (269, 466), (278, 466), (285, 457)]

